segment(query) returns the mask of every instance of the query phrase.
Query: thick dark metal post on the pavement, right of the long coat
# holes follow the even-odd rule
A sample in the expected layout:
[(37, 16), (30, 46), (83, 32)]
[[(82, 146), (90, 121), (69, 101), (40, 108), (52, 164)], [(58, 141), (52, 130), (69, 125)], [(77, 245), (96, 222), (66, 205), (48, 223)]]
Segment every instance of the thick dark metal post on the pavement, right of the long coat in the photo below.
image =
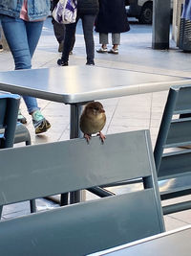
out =
[(169, 49), (170, 15), (171, 0), (153, 1), (153, 49)]

